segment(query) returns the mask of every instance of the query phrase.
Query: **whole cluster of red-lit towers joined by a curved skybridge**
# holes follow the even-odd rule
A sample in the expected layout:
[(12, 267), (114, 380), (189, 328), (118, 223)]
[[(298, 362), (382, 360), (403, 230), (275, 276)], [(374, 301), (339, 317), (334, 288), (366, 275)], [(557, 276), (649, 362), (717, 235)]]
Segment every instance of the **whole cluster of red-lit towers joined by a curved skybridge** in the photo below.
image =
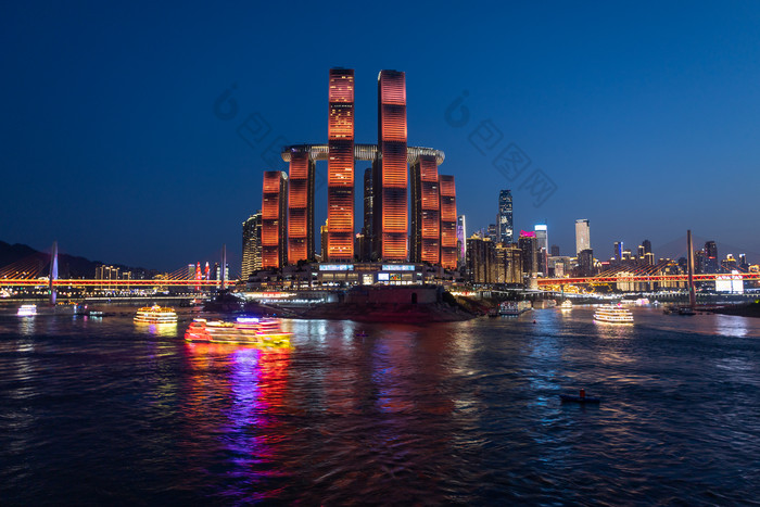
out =
[[(282, 159), (290, 164), (289, 174), (264, 173), (262, 268), (315, 259), (315, 163), (322, 160), (328, 162), (324, 262), (415, 262), (456, 268), (460, 244), (454, 177), (439, 175), (443, 152), (407, 145), (405, 74), (381, 71), (378, 76), (377, 144), (354, 142), (354, 71), (332, 68), (328, 83), (327, 144), (286, 147)], [(358, 235), (357, 160), (371, 162), (364, 174)]]

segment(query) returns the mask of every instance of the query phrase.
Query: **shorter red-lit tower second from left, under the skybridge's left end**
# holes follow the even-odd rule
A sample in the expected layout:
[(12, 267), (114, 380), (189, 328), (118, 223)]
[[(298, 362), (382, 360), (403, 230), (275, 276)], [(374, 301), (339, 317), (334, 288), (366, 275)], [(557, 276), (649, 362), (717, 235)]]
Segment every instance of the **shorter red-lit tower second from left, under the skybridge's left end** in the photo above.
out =
[(293, 153), (288, 179), (288, 263), (314, 258), (314, 161)]

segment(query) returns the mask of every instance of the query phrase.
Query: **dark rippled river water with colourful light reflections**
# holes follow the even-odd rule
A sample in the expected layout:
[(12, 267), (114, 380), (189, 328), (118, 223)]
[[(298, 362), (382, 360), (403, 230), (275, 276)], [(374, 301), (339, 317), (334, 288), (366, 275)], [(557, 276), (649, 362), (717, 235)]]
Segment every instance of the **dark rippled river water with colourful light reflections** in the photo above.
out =
[(0, 504), (757, 503), (760, 319), (592, 313), (290, 320), (276, 350), (3, 316)]

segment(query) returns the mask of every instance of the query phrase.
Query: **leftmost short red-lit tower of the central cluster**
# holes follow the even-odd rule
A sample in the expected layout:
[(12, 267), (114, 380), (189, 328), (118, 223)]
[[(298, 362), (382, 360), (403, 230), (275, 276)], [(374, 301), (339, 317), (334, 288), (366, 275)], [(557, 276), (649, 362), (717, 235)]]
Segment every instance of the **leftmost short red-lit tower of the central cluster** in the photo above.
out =
[(281, 170), (264, 172), (262, 192), (262, 268), (277, 269), (288, 261), (288, 176)]

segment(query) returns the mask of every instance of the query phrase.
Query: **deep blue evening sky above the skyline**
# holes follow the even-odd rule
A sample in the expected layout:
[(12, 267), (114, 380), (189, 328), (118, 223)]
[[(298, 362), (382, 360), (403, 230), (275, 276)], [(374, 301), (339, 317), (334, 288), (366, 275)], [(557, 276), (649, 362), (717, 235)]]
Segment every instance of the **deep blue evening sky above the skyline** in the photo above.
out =
[[(406, 72), (409, 144), (445, 151), (470, 230), (511, 188), (516, 229), (546, 221), (562, 253), (575, 218), (599, 257), (687, 228), (760, 252), (760, 3), (528, 3), (5, 2), (0, 239), (162, 269), (223, 243), (239, 257), (262, 153), (278, 136), (326, 141), (328, 69), (343, 66), (357, 142), (377, 139), (378, 72)], [(236, 134), (253, 113), (271, 127), (254, 147)], [(469, 138), (485, 121), (503, 140), (483, 155)], [(512, 181), (492, 165), (509, 143), (531, 160)], [(519, 188), (536, 168), (557, 188), (537, 207)]]

